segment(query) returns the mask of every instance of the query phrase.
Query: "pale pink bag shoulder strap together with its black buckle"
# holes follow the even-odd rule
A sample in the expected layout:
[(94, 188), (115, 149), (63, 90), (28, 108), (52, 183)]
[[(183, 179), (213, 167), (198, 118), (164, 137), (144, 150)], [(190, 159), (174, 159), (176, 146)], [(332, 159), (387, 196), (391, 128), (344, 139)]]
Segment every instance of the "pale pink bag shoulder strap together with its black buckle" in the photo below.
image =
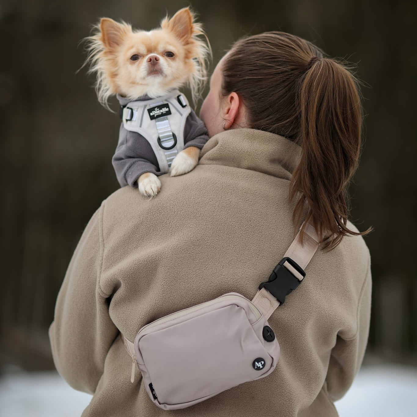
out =
[[(301, 227), (304, 223), (305, 221)], [(301, 227), (269, 280), (259, 285), (259, 291), (251, 300), (266, 319), (269, 319), (276, 308), (284, 303), (285, 296), (299, 286), (306, 276), (304, 268), (319, 247), (319, 237), (310, 223), (305, 224), (305, 229), (302, 232), (303, 245), (300, 244)]]

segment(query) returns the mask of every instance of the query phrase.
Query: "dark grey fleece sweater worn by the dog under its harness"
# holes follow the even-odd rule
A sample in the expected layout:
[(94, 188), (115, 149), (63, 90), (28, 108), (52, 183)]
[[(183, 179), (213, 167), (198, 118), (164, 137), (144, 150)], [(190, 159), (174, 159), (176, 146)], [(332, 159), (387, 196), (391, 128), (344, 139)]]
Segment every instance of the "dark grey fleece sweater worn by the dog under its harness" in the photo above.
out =
[[(126, 106), (131, 101), (151, 99), (148, 95), (143, 95), (131, 100), (120, 94), (117, 95), (117, 98), (121, 106)], [(196, 146), (201, 149), (207, 141), (206, 126), (191, 109), (184, 128), (184, 149), (188, 146)], [(126, 130), (123, 122), (120, 125), (119, 141), (112, 163), (121, 187), (126, 185), (137, 187), (137, 179), (145, 172), (151, 172), (157, 176), (164, 173), (160, 171), (156, 155), (146, 138), (140, 133)]]

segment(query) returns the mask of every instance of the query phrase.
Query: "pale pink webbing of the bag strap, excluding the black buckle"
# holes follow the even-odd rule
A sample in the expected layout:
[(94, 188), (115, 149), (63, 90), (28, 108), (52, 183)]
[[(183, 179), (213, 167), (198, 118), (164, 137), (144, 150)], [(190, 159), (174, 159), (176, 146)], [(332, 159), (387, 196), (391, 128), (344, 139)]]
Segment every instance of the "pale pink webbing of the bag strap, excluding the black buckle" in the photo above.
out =
[[(304, 223), (305, 222), (303, 222), (303, 224)], [(301, 227), (303, 224), (301, 224)], [(304, 269), (319, 247), (319, 237), (317, 236), (314, 227), (310, 223), (307, 223), (303, 232), (303, 245), (301, 246), (299, 242), (301, 227), (290, 247), (285, 252), (284, 258), (291, 258), (301, 269)], [(297, 271), (296, 268), (294, 268), (294, 266), (292, 266), (288, 261), (285, 261), (282, 266), (288, 269), (299, 282), (301, 282), (304, 278), (304, 276), (300, 274), (299, 271)], [(261, 311), (266, 319), (269, 319), (271, 314), (281, 304), (265, 287), (261, 288), (256, 293), (251, 302), (259, 309), (259, 311)]]

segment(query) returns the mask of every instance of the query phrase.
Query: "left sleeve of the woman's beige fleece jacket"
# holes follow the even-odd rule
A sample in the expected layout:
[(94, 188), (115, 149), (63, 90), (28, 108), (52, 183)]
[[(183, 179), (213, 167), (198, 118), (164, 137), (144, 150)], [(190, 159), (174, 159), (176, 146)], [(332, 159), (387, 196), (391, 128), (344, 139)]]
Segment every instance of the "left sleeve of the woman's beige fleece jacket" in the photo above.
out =
[(55, 305), (49, 339), (59, 374), (79, 391), (93, 394), (118, 329), (100, 289), (103, 205), (75, 248)]

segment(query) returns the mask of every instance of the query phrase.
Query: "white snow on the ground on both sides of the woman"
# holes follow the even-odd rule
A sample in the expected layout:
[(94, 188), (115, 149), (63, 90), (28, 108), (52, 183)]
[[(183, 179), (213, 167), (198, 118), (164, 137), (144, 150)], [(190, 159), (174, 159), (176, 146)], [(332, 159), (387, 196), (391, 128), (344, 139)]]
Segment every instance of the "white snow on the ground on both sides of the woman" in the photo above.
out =
[[(79, 417), (90, 398), (56, 372), (11, 372), (0, 378), (1, 417)], [(340, 417), (415, 417), (417, 369), (362, 367), (336, 408)]]

